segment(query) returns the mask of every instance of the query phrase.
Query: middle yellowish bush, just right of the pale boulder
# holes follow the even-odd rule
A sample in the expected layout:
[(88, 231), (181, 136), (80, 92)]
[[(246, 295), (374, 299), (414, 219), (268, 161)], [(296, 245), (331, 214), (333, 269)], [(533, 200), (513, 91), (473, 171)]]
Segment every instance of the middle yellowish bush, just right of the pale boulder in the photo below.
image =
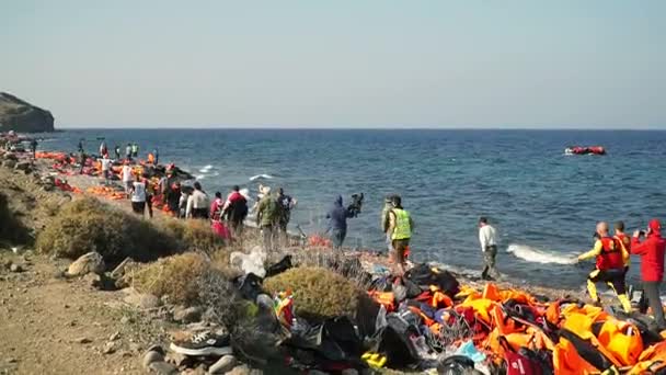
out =
[(141, 265), (126, 277), (128, 284), (141, 293), (169, 296), (171, 303), (191, 305), (198, 300), (200, 280), (209, 271), (208, 260), (186, 252)]

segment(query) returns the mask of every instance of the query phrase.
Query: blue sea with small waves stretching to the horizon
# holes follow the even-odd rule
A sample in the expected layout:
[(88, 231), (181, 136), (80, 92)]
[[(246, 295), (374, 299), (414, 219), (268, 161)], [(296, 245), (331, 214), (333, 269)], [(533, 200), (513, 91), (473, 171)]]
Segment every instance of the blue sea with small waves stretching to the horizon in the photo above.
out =
[[(666, 220), (666, 132), (496, 129), (67, 129), (42, 135), (39, 149), (96, 152), (138, 143), (161, 163), (192, 172), (210, 195), (259, 183), (298, 200), (291, 229), (323, 234), (337, 195), (364, 193), (345, 245), (386, 251), (380, 213), (400, 194), (415, 221), (414, 261), (479, 273), (478, 219), (501, 236), (497, 269), (515, 283), (583, 288), (593, 262), (574, 264), (593, 246), (598, 220), (628, 231)], [(606, 156), (565, 156), (572, 145)], [(640, 259), (632, 257), (630, 283)]]

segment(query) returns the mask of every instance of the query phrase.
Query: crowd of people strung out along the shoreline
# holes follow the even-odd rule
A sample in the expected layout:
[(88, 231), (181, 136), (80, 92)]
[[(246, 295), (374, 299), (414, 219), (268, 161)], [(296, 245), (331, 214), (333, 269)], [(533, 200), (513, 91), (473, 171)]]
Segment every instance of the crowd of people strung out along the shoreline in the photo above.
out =
[[(82, 160), (85, 156), (80, 145)], [(206, 219), (211, 223), (211, 230), (220, 237), (230, 239), (238, 237), (243, 230), (243, 223), (249, 213), (255, 212), (255, 224), (262, 232), (263, 247), (266, 252), (277, 251), (280, 246), (287, 246), (289, 235), (287, 227), (291, 211), (297, 205), (297, 200), (285, 194), (282, 188), (272, 190), (269, 186), (260, 185), (256, 194), (256, 203), (252, 208), (249, 206), (249, 192), (233, 186), (231, 192), (223, 197), (221, 192), (216, 192), (214, 198), (203, 190), (199, 182), (193, 186), (184, 186), (175, 181), (166, 170), (166, 174), (154, 184), (146, 174), (135, 174), (131, 168), (133, 158), (138, 158), (139, 147), (127, 144), (125, 164), (122, 171), (122, 180), (127, 197), (131, 201), (135, 213), (152, 217), (153, 197), (169, 207), (174, 216), (185, 219)], [(101, 166), (105, 183), (110, 182), (111, 160), (106, 144), (100, 146), (102, 156)], [(115, 156), (119, 156), (119, 147), (115, 147)], [(149, 155), (149, 161), (157, 163), (158, 151)], [(343, 247), (347, 234), (347, 220), (360, 213), (363, 195), (358, 200), (354, 195), (354, 203), (345, 207), (342, 196), (337, 196), (333, 206), (326, 214), (329, 225), (326, 234), (335, 251)], [(384, 200), (381, 212), (381, 230), (386, 236), (387, 248), (390, 254), (392, 272), (403, 275), (406, 271), (406, 258), (410, 252), (410, 240), (414, 231), (412, 215), (403, 208), (402, 198), (399, 195), (389, 195)], [(594, 248), (579, 257), (582, 262), (595, 259), (595, 268), (587, 277), (587, 291), (595, 304), (600, 305), (596, 284), (606, 283), (616, 293), (622, 308), (631, 311), (631, 302), (625, 283), (627, 273), (630, 269), (630, 254), (640, 255), (641, 279), (643, 282), (643, 297), (640, 303), (642, 312), (650, 307), (655, 316), (656, 322), (666, 328), (666, 320), (659, 298), (659, 288), (664, 275), (664, 253), (666, 240), (661, 235), (661, 223), (657, 219), (650, 221), (645, 231), (636, 230), (632, 237), (624, 232), (624, 224), (618, 221), (611, 236), (607, 223), (598, 223), (595, 234)], [(501, 277), (495, 266), (497, 254), (498, 235), (486, 217), (479, 219), (479, 242), (483, 254), (483, 280), (497, 280)]]

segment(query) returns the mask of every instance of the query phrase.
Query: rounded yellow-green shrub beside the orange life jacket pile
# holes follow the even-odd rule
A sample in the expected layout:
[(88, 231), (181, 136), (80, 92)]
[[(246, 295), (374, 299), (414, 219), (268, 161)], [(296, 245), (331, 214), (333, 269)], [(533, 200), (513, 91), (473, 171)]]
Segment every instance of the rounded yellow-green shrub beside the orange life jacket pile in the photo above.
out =
[(268, 293), (291, 291), (295, 312), (306, 319), (354, 317), (363, 295), (354, 283), (322, 268), (301, 266), (264, 281)]

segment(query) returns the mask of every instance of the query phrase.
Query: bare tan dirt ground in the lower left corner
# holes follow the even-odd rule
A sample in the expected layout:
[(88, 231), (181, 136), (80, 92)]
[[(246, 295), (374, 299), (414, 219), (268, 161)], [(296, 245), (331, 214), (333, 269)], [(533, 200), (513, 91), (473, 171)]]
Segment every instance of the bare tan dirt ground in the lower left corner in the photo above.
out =
[(0, 251), (0, 374), (145, 374), (141, 353), (166, 336), (163, 325), (123, 303), (123, 292), (60, 277), (65, 266)]

